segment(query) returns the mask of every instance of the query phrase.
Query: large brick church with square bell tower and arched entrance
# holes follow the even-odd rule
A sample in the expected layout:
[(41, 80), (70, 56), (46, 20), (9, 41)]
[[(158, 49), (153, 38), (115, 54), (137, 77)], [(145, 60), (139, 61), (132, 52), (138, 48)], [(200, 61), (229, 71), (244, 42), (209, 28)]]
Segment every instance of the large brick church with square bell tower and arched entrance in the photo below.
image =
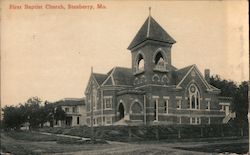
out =
[(128, 46), (132, 67), (91, 73), (87, 124), (218, 124), (234, 117), (230, 98), (219, 97), (220, 89), (209, 84), (208, 69), (203, 76), (196, 65), (172, 65), (175, 43), (149, 15)]

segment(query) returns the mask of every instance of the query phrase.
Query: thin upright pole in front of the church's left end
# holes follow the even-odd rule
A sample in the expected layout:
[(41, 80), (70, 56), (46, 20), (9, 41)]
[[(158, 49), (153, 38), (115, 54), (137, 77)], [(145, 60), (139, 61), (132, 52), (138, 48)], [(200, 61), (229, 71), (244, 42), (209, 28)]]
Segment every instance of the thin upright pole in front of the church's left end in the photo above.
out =
[(93, 67), (91, 67), (91, 83), (90, 83), (90, 105), (91, 105), (91, 116), (90, 116), (90, 124), (91, 124), (91, 141), (94, 142), (94, 127), (93, 127)]

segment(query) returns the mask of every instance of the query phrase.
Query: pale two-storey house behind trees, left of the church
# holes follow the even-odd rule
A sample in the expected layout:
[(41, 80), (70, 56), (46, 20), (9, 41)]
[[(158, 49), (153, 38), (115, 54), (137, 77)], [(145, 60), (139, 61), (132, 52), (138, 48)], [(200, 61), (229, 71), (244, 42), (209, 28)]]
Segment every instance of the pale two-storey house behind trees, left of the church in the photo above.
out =
[(84, 98), (65, 98), (54, 103), (61, 106), (66, 113), (66, 120), (55, 121), (54, 127), (86, 125), (86, 108)]

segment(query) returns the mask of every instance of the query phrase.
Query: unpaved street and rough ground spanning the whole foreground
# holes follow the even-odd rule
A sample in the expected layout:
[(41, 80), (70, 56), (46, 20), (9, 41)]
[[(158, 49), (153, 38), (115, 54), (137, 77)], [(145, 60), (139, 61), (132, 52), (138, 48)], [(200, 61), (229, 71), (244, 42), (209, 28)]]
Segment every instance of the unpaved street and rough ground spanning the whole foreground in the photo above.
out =
[(246, 153), (246, 140), (226, 139), (206, 142), (140, 141), (110, 144), (81, 144), (77, 139), (44, 135), (38, 132), (2, 132), (1, 150), (12, 154), (67, 154), (67, 155), (162, 155), (211, 154), (220, 152)]

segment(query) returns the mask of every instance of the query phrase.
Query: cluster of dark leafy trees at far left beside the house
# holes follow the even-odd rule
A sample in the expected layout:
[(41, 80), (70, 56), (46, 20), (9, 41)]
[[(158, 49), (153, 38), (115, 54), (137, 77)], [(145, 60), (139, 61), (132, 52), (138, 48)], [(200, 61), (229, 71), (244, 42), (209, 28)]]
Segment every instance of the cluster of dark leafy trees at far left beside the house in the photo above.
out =
[(6, 106), (3, 110), (3, 125), (9, 129), (20, 129), (24, 123), (29, 123), (30, 128), (43, 127), (45, 122), (50, 122), (53, 127), (54, 120), (65, 120), (66, 113), (61, 106), (42, 100), (38, 97), (29, 98), (24, 104)]

